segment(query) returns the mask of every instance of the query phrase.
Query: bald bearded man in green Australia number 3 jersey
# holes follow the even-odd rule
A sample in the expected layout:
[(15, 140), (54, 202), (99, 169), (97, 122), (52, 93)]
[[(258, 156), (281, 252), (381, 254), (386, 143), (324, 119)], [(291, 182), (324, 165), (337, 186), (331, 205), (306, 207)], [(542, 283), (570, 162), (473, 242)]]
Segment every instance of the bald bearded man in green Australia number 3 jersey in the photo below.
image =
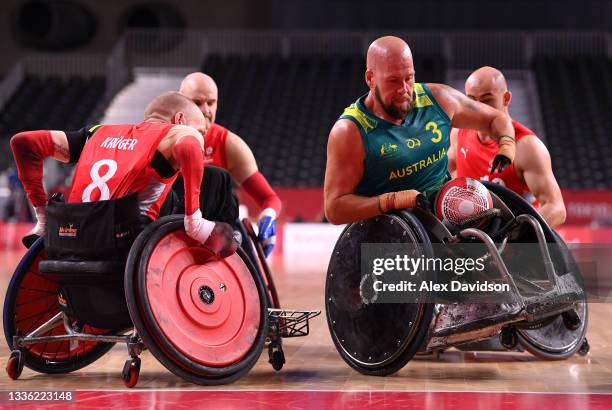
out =
[(346, 108), (327, 143), (325, 214), (334, 224), (391, 209), (412, 208), (450, 179), (451, 128), (471, 128), (495, 138), (491, 171), (512, 163), (514, 127), (501, 111), (472, 101), (444, 84), (415, 83), (412, 53), (397, 37), (368, 48), (369, 92)]

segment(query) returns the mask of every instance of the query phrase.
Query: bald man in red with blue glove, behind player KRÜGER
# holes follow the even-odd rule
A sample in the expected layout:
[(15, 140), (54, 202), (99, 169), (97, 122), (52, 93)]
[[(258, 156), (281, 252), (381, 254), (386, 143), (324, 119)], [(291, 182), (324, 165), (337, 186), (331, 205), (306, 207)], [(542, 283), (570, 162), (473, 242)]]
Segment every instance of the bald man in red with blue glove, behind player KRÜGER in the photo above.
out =
[(191, 73), (181, 83), (181, 94), (191, 99), (210, 123), (204, 137), (204, 154), (212, 165), (227, 169), (234, 180), (263, 209), (259, 216), (259, 240), (266, 256), (272, 252), (276, 238), (276, 217), (281, 211), (281, 201), (259, 172), (257, 162), (249, 146), (238, 135), (218, 124), (218, 89), (215, 81), (203, 73)]

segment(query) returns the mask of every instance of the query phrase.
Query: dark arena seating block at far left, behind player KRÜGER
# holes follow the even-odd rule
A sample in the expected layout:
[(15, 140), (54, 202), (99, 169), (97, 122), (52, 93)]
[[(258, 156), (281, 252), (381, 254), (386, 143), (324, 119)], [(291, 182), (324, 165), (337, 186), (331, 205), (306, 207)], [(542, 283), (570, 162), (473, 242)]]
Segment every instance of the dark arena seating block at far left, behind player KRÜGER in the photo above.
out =
[(31, 129), (79, 129), (103, 97), (102, 77), (26, 77), (0, 112), (0, 169), (11, 162), (8, 140)]

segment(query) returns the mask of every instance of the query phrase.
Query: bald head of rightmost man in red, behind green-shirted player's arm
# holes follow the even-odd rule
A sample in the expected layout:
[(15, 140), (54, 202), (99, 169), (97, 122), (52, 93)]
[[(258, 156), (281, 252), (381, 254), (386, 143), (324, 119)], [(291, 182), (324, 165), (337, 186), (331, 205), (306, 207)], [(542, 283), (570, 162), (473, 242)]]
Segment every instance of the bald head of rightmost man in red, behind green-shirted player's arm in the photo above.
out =
[(506, 112), (512, 99), (502, 72), (488, 66), (470, 74), (465, 82), (465, 94), (475, 101)]

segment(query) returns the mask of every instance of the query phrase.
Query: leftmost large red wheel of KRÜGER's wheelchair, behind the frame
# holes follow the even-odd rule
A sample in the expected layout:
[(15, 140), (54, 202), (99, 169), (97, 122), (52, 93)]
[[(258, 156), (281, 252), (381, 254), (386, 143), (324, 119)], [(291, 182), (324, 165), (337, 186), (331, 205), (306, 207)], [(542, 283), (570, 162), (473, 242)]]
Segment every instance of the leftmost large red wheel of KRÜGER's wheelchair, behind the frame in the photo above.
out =
[[(4, 336), (11, 350), (21, 350), (26, 367), (40, 373), (68, 373), (81, 369), (108, 352), (114, 343), (60, 341), (37, 343), (19, 348), (13, 336), (24, 336), (60, 312), (59, 284), (41, 275), (38, 264), (46, 257), (43, 240), (38, 239), (27, 251), (9, 283), (4, 299)], [(75, 323), (73, 323), (75, 324)], [(108, 330), (82, 326), (82, 332), (106, 334)], [(37, 336), (65, 335), (63, 323)]]

